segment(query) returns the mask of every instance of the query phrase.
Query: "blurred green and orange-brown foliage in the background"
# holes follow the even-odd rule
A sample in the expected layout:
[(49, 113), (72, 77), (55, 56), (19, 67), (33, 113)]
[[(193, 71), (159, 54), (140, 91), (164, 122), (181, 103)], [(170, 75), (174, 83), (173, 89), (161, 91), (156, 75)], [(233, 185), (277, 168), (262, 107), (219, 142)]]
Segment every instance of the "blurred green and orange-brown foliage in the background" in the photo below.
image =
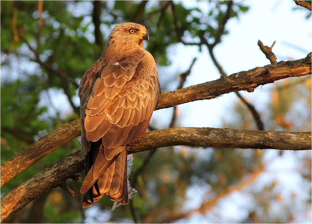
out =
[[(170, 65), (168, 46), (181, 40), (199, 42), (201, 38), (208, 43), (214, 42), (228, 2), (208, 1), (206, 13), (199, 7), (186, 7), (183, 2), (150, 1), (147, 4), (144, 1), (101, 1), (100, 18), (92, 17), (94, 2), (90, 1), (44, 1), (43, 12), (38, 11), (38, 1), (0, 3), (3, 164), (22, 147), (79, 117), (77, 86), (80, 78), (100, 57), (116, 23), (131, 21), (144, 24), (150, 36), (147, 50), (155, 57), (158, 66), (165, 67)], [(234, 2), (230, 18), (239, 18), (241, 13), (247, 11), (248, 7), (243, 2)], [(95, 41), (94, 19), (100, 19), (103, 41), (99, 43)], [(41, 20), (42, 26), (39, 25)], [(225, 27), (222, 35), (228, 32)], [(65, 80), (62, 74), (68, 79)], [(176, 77), (168, 80), (176, 81)], [(167, 83), (161, 85), (166, 86)], [(277, 82), (269, 91), (267, 94), (271, 95), (271, 103), (267, 105), (267, 111), (261, 112), (266, 129), (311, 130), (311, 97), (307, 97), (311, 96), (310, 77)], [(64, 105), (61, 109), (53, 103), (53, 100), (60, 100), (60, 96), (68, 102), (68, 106)], [(298, 102), (303, 103), (305, 110), (296, 107)], [(225, 120), (225, 127), (256, 129), (250, 112), (240, 101), (231, 106), (237, 119)], [(152, 125), (160, 128), (157, 124)], [(1, 196), (78, 149), (80, 145), (76, 139), (62, 145), (5, 184), (1, 188)], [(183, 218), (185, 211), (190, 210), (187, 204), (192, 197), (203, 197), (209, 209), (215, 204), (213, 198), (230, 192), (231, 186), (239, 190), (242, 180), (264, 166), (263, 151), (260, 150), (167, 147), (155, 151), (148, 163), (147, 156), (148, 153), (134, 155), (133, 173), (145, 164), (136, 179), (130, 176), (138, 193), (134, 194), (130, 204), (120, 206), (113, 213), (108, 212), (113, 202), (107, 197), (90, 209), (82, 209), (81, 180), (68, 180), (67, 184), (74, 190), (75, 197), (60, 188), (51, 189), (18, 212), (10, 222), (133, 222), (133, 210), (135, 219), (141, 222), (171, 222), (178, 217)], [(300, 169), (307, 179), (311, 179), (309, 167), (311, 160), (306, 160)], [(291, 221), (291, 214), (285, 219), (278, 219), (270, 216), (269, 210), (258, 211), (273, 200), (270, 192), (274, 186), (271, 183), (262, 191), (268, 194), (266, 197), (252, 192), (259, 206), (248, 210), (245, 222)], [(310, 193), (311, 188), (307, 192)], [(207, 210), (205, 207), (201, 209), (203, 212)]]

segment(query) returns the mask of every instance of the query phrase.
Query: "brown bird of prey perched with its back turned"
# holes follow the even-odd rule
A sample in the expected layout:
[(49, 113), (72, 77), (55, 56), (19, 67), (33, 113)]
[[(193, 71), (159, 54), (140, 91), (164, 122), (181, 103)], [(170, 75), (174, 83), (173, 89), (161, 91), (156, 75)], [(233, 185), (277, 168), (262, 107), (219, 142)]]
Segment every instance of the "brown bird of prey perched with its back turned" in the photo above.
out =
[(104, 194), (128, 203), (127, 145), (146, 132), (160, 94), (156, 63), (143, 49), (144, 40), (149, 41), (144, 26), (117, 24), (80, 81), (83, 207)]

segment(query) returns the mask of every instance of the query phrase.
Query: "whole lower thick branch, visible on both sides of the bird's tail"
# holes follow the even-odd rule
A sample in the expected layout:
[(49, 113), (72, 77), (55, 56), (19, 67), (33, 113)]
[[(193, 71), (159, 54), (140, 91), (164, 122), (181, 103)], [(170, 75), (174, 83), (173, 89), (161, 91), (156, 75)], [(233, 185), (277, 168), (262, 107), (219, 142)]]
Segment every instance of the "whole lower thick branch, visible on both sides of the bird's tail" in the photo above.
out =
[[(138, 153), (155, 148), (187, 145), (199, 147), (222, 147), (242, 149), (290, 149), (310, 150), (311, 132), (251, 131), (216, 128), (169, 128), (147, 132), (129, 145), (128, 153)], [(52, 187), (64, 186), (84, 169), (80, 150), (72, 153), (50, 167), (20, 184), (1, 199), (1, 222), (34, 198)]]

